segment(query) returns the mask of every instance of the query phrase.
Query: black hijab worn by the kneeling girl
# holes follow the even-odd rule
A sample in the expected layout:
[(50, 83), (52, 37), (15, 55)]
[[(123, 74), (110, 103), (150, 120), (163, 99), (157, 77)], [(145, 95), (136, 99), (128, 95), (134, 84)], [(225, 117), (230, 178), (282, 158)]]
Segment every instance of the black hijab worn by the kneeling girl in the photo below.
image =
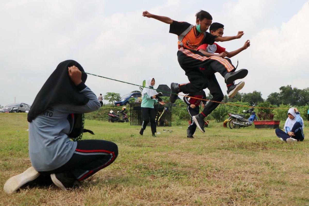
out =
[(78, 62), (74, 60), (62, 61), (36, 95), (28, 113), (28, 122), (32, 122), (36, 116), (56, 104), (85, 105), (88, 103), (89, 99), (79, 93), (69, 77), (68, 67), (70, 66), (78, 67), (83, 72), (82, 82), (86, 82), (87, 74), (84, 73), (83, 67)]

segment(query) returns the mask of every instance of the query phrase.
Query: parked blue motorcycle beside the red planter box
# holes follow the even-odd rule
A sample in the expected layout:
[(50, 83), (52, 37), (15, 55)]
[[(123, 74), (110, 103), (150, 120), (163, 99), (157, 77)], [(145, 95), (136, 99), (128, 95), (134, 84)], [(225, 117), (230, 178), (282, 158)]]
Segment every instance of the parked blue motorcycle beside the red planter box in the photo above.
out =
[(254, 110), (254, 106), (252, 105), (252, 107), (248, 110), (243, 110), (243, 113), (245, 114), (250, 114), (250, 117), (248, 119), (245, 119), (245, 115), (243, 114), (233, 114), (233, 113), (228, 113), (229, 118), (226, 119), (223, 122), (223, 126), (227, 127), (227, 123), (229, 123), (229, 127), (231, 129), (239, 129), (241, 127), (249, 127), (252, 125), (253, 121), (257, 120), (257, 116), (255, 114)]

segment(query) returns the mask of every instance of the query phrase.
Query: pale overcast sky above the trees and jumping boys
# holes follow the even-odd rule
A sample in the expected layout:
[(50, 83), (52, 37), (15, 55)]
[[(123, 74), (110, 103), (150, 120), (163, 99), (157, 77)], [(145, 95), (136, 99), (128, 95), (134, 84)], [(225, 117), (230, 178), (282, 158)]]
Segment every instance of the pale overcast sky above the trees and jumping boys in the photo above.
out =
[[(309, 87), (308, 0), (42, 1), (0, 2), (0, 105), (32, 104), (36, 94), (66, 59), (86, 72), (156, 86), (188, 82), (177, 61), (177, 36), (169, 25), (142, 16), (142, 11), (195, 23), (200, 9), (224, 24), (224, 35), (244, 31), (241, 39), (219, 43), (233, 51), (247, 39), (251, 47), (231, 58), (249, 70), (240, 92), (260, 91), (263, 98), (279, 87)], [(226, 86), (217, 75), (222, 91)], [(88, 75), (86, 85), (99, 95), (125, 95), (138, 87)], [(155, 88), (156, 88), (155, 86)], [(209, 92), (205, 90), (206, 94)]]

